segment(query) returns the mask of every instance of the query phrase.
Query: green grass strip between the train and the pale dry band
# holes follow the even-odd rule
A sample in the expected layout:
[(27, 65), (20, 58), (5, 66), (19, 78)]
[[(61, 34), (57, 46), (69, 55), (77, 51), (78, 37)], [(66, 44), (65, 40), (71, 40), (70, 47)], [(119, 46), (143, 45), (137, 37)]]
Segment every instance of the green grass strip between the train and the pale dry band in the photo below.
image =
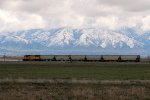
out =
[(99, 62), (0, 62), (0, 79), (149, 80), (150, 64)]

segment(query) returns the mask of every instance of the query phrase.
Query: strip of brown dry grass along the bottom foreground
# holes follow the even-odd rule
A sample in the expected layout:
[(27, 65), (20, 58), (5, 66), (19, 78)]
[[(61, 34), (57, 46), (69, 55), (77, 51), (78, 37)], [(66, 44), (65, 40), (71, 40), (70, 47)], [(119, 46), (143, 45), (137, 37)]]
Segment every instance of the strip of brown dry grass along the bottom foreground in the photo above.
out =
[(0, 83), (0, 100), (145, 100), (150, 84)]

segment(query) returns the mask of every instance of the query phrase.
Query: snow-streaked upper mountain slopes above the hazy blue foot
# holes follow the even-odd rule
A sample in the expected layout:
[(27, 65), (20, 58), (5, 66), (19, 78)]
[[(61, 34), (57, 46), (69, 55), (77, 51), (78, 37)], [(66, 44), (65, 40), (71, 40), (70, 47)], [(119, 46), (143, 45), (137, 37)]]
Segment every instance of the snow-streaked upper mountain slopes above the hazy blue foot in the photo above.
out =
[[(129, 32), (128, 32), (129, 31)], [(0, 33), (0, 48), (18, 48), (21, 50), (69, 50), (88, 51), (112, 49), (143, 48), (149, 44), (150, 35), (136, 35), (132, 30), (111, 31), (95, 28), (88, 29), (32, 29), (18, 32)], [(110, 49), (112, 48), (112, 49)], [(66, 51), (67, 52), (67, 51)]]

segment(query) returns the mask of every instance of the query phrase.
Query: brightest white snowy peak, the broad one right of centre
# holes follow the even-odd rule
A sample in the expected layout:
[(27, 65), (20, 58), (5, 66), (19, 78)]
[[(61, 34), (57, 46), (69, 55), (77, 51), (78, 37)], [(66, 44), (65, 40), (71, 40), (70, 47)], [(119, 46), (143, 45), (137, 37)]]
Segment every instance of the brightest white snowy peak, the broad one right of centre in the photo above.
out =
[(114, 48), (118, 46), (123, 47), (123, 44), (126, 44), (130, 48), (133, 48), (134, 46), (143, 46), (142, 43), (134, 40), (133, 38), (129, 38), (126, 35), (116, 32), (88, 29), (83, 30), (82, 33), (83, 34), (80, 36), (76, 45), (95, 45), (102, 48), (106, 48), (107, 46), (112, 46)]

